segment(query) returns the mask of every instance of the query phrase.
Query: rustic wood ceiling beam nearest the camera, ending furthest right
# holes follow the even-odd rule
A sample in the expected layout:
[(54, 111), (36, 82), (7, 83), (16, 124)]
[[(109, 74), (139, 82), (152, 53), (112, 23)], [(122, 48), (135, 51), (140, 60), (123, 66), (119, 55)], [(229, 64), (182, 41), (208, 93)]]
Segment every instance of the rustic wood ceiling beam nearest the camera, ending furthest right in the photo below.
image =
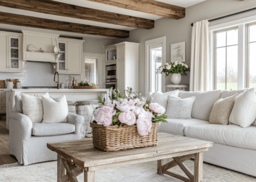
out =
[(87, 0), (172, 19), (185, 17), (185, 8), (154, 0)]

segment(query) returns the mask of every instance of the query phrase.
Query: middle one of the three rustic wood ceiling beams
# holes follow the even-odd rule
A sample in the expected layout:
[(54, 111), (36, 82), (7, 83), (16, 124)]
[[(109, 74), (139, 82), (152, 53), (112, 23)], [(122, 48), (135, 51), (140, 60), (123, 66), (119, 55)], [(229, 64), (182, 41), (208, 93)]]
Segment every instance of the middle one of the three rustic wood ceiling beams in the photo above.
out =
[(154, 20), (151, 19), (105, 12), (102, 10), (51, 0), (0, 0), (0, 5), (32, 12), (46, 13), (49, 15), (66, 16), (70, 18), (104, 22), (107, 24), (123, 25), (127, 27), (141, 29), (154, 28)]

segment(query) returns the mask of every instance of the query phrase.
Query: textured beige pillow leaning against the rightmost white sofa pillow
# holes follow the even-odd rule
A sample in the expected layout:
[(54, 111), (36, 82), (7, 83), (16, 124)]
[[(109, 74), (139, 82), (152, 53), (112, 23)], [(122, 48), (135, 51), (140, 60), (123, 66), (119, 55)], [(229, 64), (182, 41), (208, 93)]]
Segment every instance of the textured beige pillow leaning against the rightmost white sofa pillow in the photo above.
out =
[(213, 105), (209, 122), (211, 124), (229, 124), (229, 116), (235, 104), (235, 99), (238, 93), (227, 98), (220, 98)]

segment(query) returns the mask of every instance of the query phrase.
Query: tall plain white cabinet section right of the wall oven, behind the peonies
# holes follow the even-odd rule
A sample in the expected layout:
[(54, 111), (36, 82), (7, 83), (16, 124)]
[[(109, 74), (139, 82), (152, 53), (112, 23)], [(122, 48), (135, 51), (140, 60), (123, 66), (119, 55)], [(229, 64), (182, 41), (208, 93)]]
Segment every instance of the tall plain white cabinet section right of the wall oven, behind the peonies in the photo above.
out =
[(116, 45), (116, 79), (117, 89), (121, 94), (127, 87), (138, 91), (138, 43), (121, 42)]

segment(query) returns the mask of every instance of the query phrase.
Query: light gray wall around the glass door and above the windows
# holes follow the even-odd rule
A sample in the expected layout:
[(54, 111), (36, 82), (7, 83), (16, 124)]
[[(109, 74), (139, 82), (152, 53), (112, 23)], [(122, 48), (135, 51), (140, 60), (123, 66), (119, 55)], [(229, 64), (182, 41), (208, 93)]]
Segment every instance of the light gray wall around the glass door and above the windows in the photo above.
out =
[[(140, 63), (139, 63), (139, 85), (140, 91), (144, 93), (145, 80), (145, 41), (150, 39), (166, 36), (166, 62), (170, 61), (171, 44), (177, 42), (186, 42), (186, 64), (190, 65), (190, 49), (191, 49), (191, 23), (202, 21), (204, 19), (214, 19), (220, 16), (230, 15), (232, 13), (241, 12), (256, 7), (255, 0), (236, 1), (236, 0), (208, 0), (200, 4), (186, 8), (186, 17), (175, 20), (161, 18), (155, 21), (155, 28), (152, 30), (135, 29), (130, 32), (130, 38), (118, 39), (117, 42), (130, 41), (140, 43)], [(210, 25), (222, 22), (232, 21), (247, 16), (256, 15), (256, 11), (236, 15), (232, 18), (226, 18), (219, 21), (211, 22)], [(189, 74), (189, 73), (188, 73)], [(166, 84), (169, 84), (169, 76), (166, 78)], [(181, 84), (189, 84), (190, 76), (183, 76)]]

